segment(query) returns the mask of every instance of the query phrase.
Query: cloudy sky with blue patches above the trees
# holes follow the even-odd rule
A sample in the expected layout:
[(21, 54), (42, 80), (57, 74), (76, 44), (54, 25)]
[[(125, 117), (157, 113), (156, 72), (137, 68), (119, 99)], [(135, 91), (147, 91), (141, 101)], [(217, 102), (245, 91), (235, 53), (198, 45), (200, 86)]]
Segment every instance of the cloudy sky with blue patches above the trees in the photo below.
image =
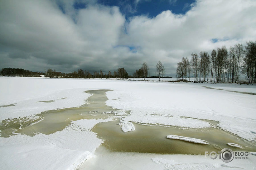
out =
[(166, 76), (191, 53), (256, 41), (255, 0), (0, 0), (0, 69)]

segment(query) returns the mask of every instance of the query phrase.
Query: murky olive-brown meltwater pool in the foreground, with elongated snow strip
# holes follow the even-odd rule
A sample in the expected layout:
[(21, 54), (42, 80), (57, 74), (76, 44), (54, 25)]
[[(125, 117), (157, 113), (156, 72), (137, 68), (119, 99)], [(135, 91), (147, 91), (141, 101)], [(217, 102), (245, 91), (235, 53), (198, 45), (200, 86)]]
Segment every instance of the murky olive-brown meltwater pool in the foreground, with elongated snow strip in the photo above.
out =
[[(228, 148), (227, 143), (248, 146), (244, 149), (236, 148), (236, 150), (256, 151), (255, 144), (219, 128), (184, 129), (179, 127), (133, 124), (135, 130), (126, 133), (120, 129), (119, 120), (99, 123), (92, 128), (92, 131), (97, 133), (98, 138), (104, 140), (102, 146), (109, 151), (203, 155), (205, 151), (218, 152), (223, 148)], [(166, 136), (170, 134), (201, 139), (207, 141), (209, 145), (167, 139)], [(233, 149), (233, 147), (231, 147), (231, 149)]]

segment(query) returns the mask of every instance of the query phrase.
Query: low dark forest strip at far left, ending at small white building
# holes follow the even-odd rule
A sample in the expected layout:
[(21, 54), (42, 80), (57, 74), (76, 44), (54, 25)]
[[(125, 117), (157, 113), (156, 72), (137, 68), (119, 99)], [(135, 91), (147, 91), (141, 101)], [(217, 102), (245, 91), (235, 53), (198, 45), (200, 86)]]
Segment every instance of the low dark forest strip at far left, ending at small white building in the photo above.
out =
[(40, 77), (42, 72), (33, 72), (22, 68), (3, 68), (1, 69), (2, 76), (16, 76), (16, 77)]

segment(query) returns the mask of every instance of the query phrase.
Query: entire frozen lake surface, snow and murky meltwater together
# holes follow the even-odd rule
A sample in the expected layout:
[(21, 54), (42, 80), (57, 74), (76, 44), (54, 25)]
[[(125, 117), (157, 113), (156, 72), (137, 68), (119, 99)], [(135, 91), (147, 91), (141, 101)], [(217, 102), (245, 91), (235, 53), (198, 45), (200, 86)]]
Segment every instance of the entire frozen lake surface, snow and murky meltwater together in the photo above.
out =
[[(194, 169), (224, 168), (219, 160), (205, 160), (204, 151), (256, 151), (255, 85), (17, 77), (0, 82), (1, 89), (9, 87), (0, 92), (5, 169), (165, 169), (177, 161), (198, 165)], [(120, 164), (132, 153), (136, 161)], [(255, 161), (250, 155), (230, 164), (250, 168)]]

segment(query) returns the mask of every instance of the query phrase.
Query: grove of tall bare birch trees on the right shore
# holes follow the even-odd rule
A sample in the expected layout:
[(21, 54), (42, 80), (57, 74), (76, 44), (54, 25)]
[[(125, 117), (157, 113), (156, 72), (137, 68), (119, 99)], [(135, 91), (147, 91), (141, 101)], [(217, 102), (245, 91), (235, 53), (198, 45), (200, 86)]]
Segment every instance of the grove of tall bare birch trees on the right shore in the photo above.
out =
[(193, 77), (194, 81), (214, 81), (237, 83), (240, 73), (246, 75), (249, 83), (256, 83), (256, 42), (249, 41), (246, 46), (237, 44), (227, 49), (225, 46), (213, 49), (211, 54), (201, 51), (182, 58), (177, 63), (178, 78)]

